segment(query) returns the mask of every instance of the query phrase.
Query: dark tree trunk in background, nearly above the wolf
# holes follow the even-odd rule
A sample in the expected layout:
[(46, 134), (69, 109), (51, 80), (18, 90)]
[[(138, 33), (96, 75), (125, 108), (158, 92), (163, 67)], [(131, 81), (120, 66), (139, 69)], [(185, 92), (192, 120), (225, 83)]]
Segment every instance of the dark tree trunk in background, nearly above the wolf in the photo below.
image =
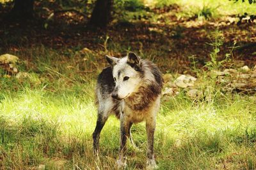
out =
[(90, 19), (90, 25), (106, 27), (111, 20), (113, 0), (97, 0)]

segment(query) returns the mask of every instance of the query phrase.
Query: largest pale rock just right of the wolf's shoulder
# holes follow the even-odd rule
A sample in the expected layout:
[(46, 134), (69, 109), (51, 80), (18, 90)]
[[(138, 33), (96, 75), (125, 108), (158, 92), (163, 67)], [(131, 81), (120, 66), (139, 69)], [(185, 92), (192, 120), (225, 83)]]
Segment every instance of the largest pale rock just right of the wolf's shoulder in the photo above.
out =
[(195, 81), (196, 81), (195, 77), (189, 74), (187, 75), (182, 74), (174, 81), (174, 83), (177, 87), (186, 88), (186, 87), (194, 86)]

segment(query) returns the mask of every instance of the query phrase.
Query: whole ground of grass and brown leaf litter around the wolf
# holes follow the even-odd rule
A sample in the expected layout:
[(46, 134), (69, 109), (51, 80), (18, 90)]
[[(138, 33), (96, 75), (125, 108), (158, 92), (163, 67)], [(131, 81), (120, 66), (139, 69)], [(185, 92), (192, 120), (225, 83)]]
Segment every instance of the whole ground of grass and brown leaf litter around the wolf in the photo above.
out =
[[(77, 12), (58, 13), (47, 22), (43, 12), (40, 20), (3, 20), (0, 54), (19, 57), (18, 70), (28, 76), (0, 72), (1, 169), (115, 169), (115, 117), (102, 131), (100, 155), (92, 154), (95, 80), (108, 65), (105, 55), (121, 57), (130, 50), (173, 78), (191, 74), (204, 82), (203, 99), (190, 99), (181, 89), (162, 102), (155, 138), (159, 169), (255, 169), (255, 94), (223, 92), (209, 76), (255, 66), (255, 24), (237, 25), (237, 6), (214, 10), (218, 5), (207, 2), (199, 11), (179, 1), (150, 7), (145, 17), (129, 12), (106, 29), (86, 26), (88, 18)], [(212, 17), (199, 15), (206, 7)], [(129, 146), (128, 169), (143, 169), (145, 124), (134, 125), (132, 134), (142, 151)]]

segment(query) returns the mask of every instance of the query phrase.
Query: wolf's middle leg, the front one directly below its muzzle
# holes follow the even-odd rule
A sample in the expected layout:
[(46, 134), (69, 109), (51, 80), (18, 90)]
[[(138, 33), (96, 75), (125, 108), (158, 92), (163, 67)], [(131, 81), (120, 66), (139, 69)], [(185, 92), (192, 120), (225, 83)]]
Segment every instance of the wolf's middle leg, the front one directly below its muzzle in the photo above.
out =
[(118, 167), (125, 167), (126, 166), (126, 141), (129, 138), (129, 129), (130, 129), (131, 122), (124, 117), (122, 113), (120, 115), (120, 150), (119, 150), (119, 157), (117, 160)]

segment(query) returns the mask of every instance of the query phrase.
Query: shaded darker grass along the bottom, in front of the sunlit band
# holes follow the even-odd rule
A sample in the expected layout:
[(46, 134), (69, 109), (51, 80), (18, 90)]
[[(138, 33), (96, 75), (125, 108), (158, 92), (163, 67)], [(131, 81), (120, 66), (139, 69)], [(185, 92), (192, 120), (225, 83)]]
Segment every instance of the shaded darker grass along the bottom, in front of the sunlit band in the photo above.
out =
[[(110, 130), (113, 132), (112, 128)], [(256, 166), (255, 131), (256, 127), (241, 133), (233, 132), (232, 135), (230, 131), (214, 134), (198, 132), (181, 141), (168, 139), (170, 145), (163, 145), (164, 139), (156, 139), (156, 159), (160, 169), (207, 169), (215, 166), (252, 169)], [(11, 122), (0, 117), (0, 167), (26, 169), (44, 165), (49, 169), (74, 166), (77, 166), (76, 169), (115, 169), (118, 133), (110, 135), (111, 132), (108, 129), (102, 135), (102, 152), (95, 157), (92, 154), (92, 139), (88, 139), (87, 134), (81, 135), (83, 137), (66, 136), (60, 131), (60, 125), (42, 119), (24, 117), (20, 122)], [(145, 138), (134, 134), (137, 139)], [(156, 137), (163, 136), (160, 132)], [(146, 142), (143, 145), (146, 147)], [(144, 167), (145, 147), (143, 152), (129, 148), (130, 169)]]

